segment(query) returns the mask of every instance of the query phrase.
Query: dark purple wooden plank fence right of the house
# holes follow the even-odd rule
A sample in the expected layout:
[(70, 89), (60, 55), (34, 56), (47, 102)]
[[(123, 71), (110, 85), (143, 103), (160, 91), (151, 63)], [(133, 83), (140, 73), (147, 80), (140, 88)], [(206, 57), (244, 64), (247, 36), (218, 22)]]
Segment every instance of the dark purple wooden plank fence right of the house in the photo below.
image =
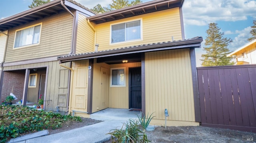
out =
[(256, 132), (256, 65), (197, 72), (202, 126)]

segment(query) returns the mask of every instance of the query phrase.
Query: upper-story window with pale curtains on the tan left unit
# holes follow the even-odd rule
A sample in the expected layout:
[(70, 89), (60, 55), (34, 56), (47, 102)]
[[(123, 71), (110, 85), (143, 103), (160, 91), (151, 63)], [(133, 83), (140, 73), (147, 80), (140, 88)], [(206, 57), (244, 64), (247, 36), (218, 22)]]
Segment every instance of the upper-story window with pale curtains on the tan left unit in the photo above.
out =
[(39, 44), (41, 25), (42, 23), (16, 30), (14, 48)]

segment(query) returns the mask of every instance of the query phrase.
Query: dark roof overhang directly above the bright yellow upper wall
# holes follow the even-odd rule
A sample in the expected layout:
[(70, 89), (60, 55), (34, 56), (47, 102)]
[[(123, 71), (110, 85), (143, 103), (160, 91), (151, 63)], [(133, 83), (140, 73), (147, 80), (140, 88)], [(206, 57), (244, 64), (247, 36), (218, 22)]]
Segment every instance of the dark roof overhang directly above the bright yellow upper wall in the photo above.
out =
[(100, 24), (104, 22), (119, 20), (122, 18), (129, 18), (132, 16), (148, 14), (151, 12), (182, 7), (183, 3), (184, 0), (152, 0), (150, 2), (145, 2), (134, 6), (114, 10), (111, 12), (91, 16), (86, 19), (94, 22), (95, 24)]

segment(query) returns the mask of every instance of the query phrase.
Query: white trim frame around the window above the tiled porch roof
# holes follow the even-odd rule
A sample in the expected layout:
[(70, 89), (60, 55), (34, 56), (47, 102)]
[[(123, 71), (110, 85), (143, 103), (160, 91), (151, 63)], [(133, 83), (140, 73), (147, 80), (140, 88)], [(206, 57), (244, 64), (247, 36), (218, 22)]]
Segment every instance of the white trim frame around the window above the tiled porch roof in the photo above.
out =
[[(122, 41), (122, 42), (116, 42), (116, 43), (112, 43), (112, 25), (116, 25), (116, 24), (123, 24), (123, 23), (128, 23), (128, 22), (135, 22), (140, 20), (140, 39), (135, 39), (135, 40), (127, 40), (127, 41)], [(128, 21), (124, 21), (124, 22), (117, 22), (114, 24), (110, 24), (110, 37), (109, 37), (109, 45), (116, 45), (116, 44), (122, 44), (122, 43), (129, 43), (129, 42), (136, 42), (136, 41), (143, 41), (143, 33), (142, 33), (142, 18), (138, 18), (138, 19), (134, 19), (134, 20), (128, 20)]]

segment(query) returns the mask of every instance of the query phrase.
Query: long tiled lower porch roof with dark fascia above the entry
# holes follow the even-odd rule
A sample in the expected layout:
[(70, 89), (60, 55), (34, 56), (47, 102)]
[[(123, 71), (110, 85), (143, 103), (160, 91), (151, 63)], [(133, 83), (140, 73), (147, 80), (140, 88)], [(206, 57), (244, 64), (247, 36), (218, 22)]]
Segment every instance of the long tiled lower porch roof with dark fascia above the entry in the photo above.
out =
[(111, 56), (135, 54), (135, 53), (144, 53), (144, 52), (151, 52), (151, 51), (182, 49), (182, 48), (190, 48), (190, 47), (200, 48), (202, 41), (203, 41), (202, 37), (194, 37), (191, 39), (184, 39), (184, 40), (178, 40), (178, 41), (158, 42), (158, 43), (150, 43), (150, 44), (122, 47), (122, 48), (116, 48), (116, 49), (109, 49), (104, 51), (94, 51), (89, 53), (63, 55), (63, 56), (57, 57), (57, 59), (60, 61), (60, 63), (65, 63), (69, 61), (111, 57)]

